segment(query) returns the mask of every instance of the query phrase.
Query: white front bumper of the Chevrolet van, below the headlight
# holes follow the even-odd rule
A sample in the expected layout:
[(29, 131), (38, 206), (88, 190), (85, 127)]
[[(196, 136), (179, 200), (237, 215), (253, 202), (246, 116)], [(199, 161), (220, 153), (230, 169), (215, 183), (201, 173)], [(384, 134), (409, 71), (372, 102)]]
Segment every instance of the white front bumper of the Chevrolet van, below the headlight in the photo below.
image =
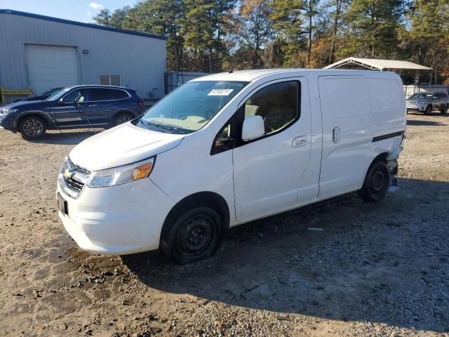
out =
[(149, 179), (112, 187), (84, 187), (77, 199), (61, 188), (68, 214), (65, 230), (83, 250), (129, 254), (158, 249), (163, 222), (174, 202)]

